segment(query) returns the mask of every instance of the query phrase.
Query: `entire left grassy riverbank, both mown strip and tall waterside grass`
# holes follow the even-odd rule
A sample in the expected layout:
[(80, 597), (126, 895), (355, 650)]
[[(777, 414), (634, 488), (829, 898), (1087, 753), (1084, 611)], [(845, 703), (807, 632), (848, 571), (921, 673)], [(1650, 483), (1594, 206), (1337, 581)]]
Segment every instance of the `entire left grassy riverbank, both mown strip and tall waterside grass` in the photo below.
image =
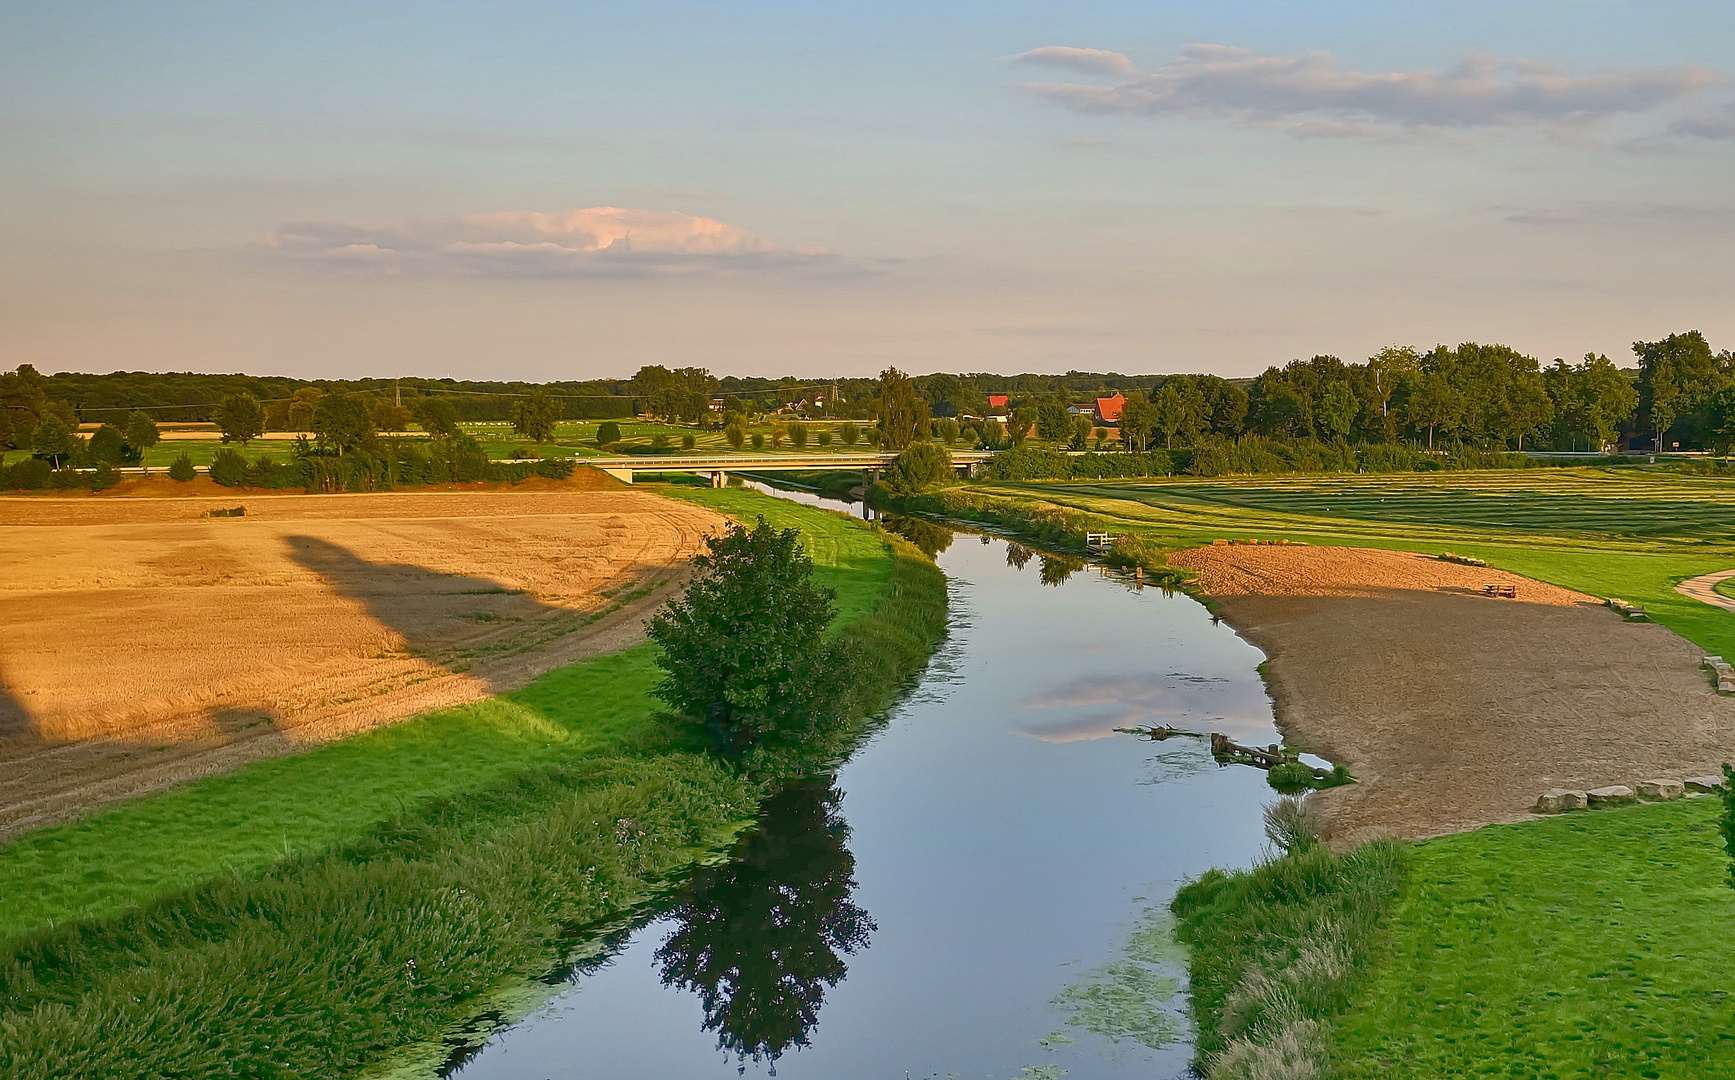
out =
[[(859, 663), (850, 721), (815, 748), (836, 752), (944, 632), (942, 575), (836, 514), (671, 493), (807, 533)], [(106, 915), (7, 943), (0, 1077), (340, 1077), (434, 1038), (715, 847), (777, 780), (665, 729), (652, 681), (632, 649), (0, 849), (0, 910), (57, 882), (14, 932)]]

